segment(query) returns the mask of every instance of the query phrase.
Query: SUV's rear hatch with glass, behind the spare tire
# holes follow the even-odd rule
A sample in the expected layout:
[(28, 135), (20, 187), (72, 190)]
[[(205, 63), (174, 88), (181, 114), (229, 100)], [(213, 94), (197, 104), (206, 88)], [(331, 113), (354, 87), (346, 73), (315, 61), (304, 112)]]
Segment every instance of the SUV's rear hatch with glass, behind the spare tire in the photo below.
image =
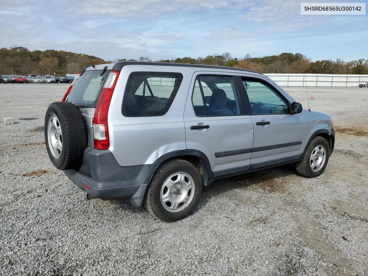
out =
[[(86, 70), (81, 76), (74, 81), (72, 88), (66, 99), (67, 102), (72, 102), (79, 106), (87, 131), (88, 146), (93, 148), (93, 116), (95, 114), (96, 105), (98, 102), (99, 95), (102, 91), (103, 85), (106, 82), (107, 76), (111, 70), (102, 69), (94, 70), (95, 68), (90, 67), (93, 70)], [(101, 73), (103, 73), (101, 75)]]

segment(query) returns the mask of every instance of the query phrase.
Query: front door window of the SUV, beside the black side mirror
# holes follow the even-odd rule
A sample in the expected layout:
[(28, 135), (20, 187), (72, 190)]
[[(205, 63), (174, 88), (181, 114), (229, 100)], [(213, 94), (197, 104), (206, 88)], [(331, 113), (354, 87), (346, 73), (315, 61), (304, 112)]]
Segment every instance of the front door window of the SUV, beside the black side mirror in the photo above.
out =
[(287, 114), (286, 100), (263, 82), (255, 79), (242, 78), (251, 105), (252, 114)]

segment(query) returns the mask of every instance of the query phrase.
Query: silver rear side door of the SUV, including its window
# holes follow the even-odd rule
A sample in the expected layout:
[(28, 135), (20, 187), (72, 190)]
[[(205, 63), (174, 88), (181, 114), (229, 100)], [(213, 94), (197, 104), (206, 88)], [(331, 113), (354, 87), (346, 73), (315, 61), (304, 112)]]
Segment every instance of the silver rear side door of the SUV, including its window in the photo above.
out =
[(204, 153), (214, 176), (247, 170), (253, 124), (237, 78), (231, 73), (195, 72), (184, 111), (187, 149)]

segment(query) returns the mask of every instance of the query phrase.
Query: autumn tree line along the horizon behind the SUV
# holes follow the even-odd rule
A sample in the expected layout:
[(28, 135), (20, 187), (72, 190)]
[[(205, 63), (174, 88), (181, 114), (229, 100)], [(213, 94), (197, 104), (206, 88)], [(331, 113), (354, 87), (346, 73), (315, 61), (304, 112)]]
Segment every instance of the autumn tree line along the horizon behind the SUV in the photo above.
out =
[[(0, 74), (78, 74), (86, 65), (115, 63), (117, 61), (153, 61), (148, 57), (134, 59), (103, 60), (99, 57), (86, 54), (77, 54), (66, 51), (45, 50), (29, 51), (25, 47), (10, 47), (0, 49)], [(206, 57), (183, 57), (171, 60), (155, 60), (164, 63), (189, 63), (202, 65), (216, 65), (251, 69), (261, 73), (284, 74), (368, 74), (368, 60), (359, 59), (353, 61), (317, 60), (311, 59), (300, 53), (282, 53), (274, 56), (252, 57), (246, 54), (243, 58), (231, 57), (226, 52), (212, 54)]]

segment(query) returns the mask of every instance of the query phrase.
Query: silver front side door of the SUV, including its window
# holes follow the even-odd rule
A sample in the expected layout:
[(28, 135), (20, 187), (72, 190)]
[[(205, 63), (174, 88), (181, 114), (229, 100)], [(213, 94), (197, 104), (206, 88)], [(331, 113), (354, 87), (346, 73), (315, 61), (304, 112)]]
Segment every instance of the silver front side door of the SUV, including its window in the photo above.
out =
[(250, 169), (298, 159), (305, 120), (291, 114), (289, 102), (265, 80), (242, 77), (251, 107), (254, 142)]

